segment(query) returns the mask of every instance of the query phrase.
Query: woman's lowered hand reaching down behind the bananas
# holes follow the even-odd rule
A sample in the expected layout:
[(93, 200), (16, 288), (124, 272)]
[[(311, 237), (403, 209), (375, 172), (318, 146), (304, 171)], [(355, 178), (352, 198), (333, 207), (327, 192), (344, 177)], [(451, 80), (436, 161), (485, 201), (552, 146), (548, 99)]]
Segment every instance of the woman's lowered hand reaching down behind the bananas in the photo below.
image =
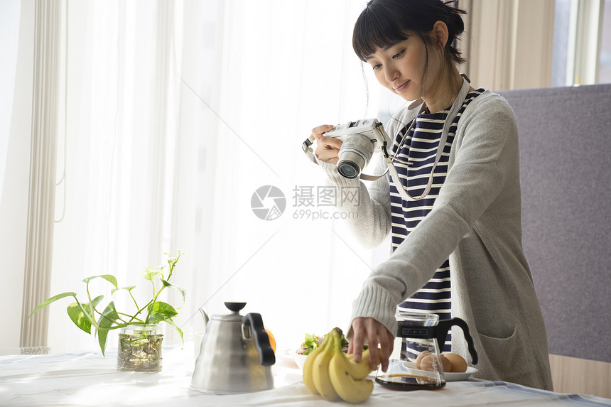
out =
[[(377, 349), (378, 344), (382, 351), (382, 371), (388, 369), (388, 359), (392, 353), (394, 336), (381, 322), (373, 318), (355, 318), (352, 321), (352, 338), (348, 343), (348, 353), (355, 354), (355, 362), (360, 362), (363, 352), (364, 340), (367, 340), (369, 349)], [(369, 351), (369, 367), (377, 369), (377, 354)]]

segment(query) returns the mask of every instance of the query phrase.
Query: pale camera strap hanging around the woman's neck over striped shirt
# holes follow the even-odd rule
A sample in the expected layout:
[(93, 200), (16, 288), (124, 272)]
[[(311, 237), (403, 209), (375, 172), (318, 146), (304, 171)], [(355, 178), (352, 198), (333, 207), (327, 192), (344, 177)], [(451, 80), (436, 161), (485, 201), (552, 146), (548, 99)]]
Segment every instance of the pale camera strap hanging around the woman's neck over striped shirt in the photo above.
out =
[[(450, 131), (450, 126), (452, 126), (452, 122), (454, 121), (454, 118), (458, 115), (458, 111), (460, 110), (460, 107), (463, 105), (463, 102), (465, 101), (465, 98), (467, 97), (467, 94), (469, 93), (469, 87), (470, 87), (469, 81), (463, 75), (463, 87), (460, 88), (460, 93), (458, 94), (458, 97), (456, 97), (454, 103), (452, 104), (452, 107), (450, 108), (450, 112), (448, 112), (448, 116), (445, 117), (445, 122), (443, 124), (443, 131), (441, 132), (441, 139), (439, 140), (439, 144), (437, 146), (437, 155), (435, 157), (435, 163), (433, 163), (433, 168), (431, 168), (431, 175), (429, 175), (428, 177), (428, 183), (426, 183), (426, 187), (424, 188), (424, 191), (422, 192), (420, 196), (413, 197), (409, 195), (409, 192), (407, 192), (403, 184), (401, 184), (401, 180), (399, 178), (399, 174), (396, 172), (396, 168), (394, 168), (394, 164), (393, 164), (394, 156), (389, 156), (387, 153), (384, 154), (386, 156), (386, 163), (388, 163), (388, 169), (391, 175), (391, 182), (395, 184), (396, 190), (399, 191), (399, 195), (401, 195), (401, 198), (403, 198), (404, 200), (408, 200), (408, 201), (421, 200), (423, 197), (426, 197), (426, 195), (428, 195), (428, 192), (431, 191), (431, 186), (433, 185), (433, 178), (435, 177), (435, 168), (437, 168), (437, 164), (439, 163), (439, 160), (443, 154), (443, 149), (445, 148), (445, 142), (448, 141), (448, 132)], [(420, 112), (418, 112), (418, 114), (424, 112), (425, 108), (426, 108), (426, 105), (423, 103), (421, 106)], [(411, 129), (413, 129), (414, 124), (416, 124), (415, 117), (411, 121), (409, 128), (405, 132), (404, 139), (409, 134)], [(403, 142), (401, 141), (401, 144), (402, 143)], [(400, 146), (401, 145), (399, 145), (399, 147)], [(399, 148), (397, 148), (397, 152), (398, 151), (399, 151)]]

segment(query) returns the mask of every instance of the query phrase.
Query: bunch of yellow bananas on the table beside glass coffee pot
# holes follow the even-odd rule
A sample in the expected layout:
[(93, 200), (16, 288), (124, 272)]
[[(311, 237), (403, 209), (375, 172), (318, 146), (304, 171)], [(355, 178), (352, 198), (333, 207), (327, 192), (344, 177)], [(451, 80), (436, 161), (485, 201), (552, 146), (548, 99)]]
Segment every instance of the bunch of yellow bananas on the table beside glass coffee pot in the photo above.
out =
[(303, 383), (325, 400), (342, 398), (349, 403), (362, 403), (374, 390), (374, 382), (364, 379), (372, 371), (369, 349), (363, 352), (361, 362), (355, 362), (342, 351), (338, 330), (331, 330), (323, 344), (308, 354), (303, 364)]

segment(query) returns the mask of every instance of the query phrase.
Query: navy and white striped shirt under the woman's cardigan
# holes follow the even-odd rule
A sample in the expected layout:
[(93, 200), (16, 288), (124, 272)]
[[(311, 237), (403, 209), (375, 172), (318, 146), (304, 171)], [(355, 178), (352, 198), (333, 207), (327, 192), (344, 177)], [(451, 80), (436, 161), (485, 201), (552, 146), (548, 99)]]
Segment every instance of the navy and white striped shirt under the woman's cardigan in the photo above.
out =
[[(467, 105), (482, 92), (484, 92), (484, 89), (480, 88), (467, 94), (463, 106), (458, 110), (458, 114), (448, 131), (448, 139), (443, 146), (443, 154), (435, 168), (431, 190), (426, 197), (416, 201), (403, 200), (391, 177), (391, 244), (393, 251), (431, 212), (433, 203), (435, 203), (439, 190), (445, 181), (445, 175), (448, 173), (448, 158), (450, 157), (450, 149), (454, 141), (458, 120)], [(422, 195), (426, 188), (431, 176), (431, 169), (435, 163), (443, 124), (449, 112), (450, 108), (433, 114), (428, 113), (428, 111), (418, 114), (415, 119), (416, 123), (403, 143), (401, 144), (401, 141), (404, 139), (405, 132), (409, 129), (410, 124), (404, 126), (395, 137), (392, 148), (395, 157), (394, 166), (399, 174), (401, 184), (412, 197)], [(398, 149), (399, 152), (397, 153)], [(450, 309), (450, 261), (448, 259), (437, 268), (428, 283), (399, 305), (401, 311), (436, 313), (439, 315), (439, 320), (450, 319)], [(440, 350), (450, 352), (451, 343), (451, 335), (448, 332), (448, 338), (443, 345), (443, 349)]]

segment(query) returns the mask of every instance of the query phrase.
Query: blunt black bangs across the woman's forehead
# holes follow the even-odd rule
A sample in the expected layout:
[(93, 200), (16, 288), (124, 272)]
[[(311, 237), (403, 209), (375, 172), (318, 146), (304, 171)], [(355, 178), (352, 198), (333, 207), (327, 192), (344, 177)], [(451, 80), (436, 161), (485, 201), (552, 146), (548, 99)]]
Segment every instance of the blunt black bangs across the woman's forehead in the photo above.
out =
[(360, 60), (364, 61), (377, 48), (394, 45), (407, 39), (396, 16), (386, 7), (370, 4), (364, 9), (355, 23), (352, 32), (352, 48)]

